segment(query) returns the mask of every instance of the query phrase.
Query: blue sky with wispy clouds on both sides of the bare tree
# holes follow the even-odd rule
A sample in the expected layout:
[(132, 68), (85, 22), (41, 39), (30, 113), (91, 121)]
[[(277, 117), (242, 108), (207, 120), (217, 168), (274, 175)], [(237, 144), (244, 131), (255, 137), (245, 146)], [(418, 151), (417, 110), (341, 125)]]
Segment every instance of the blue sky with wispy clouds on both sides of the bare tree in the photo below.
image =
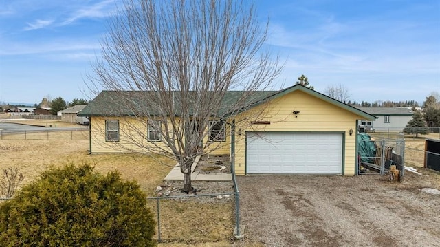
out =
[[(351, 100), (417, 100), (440, 92), (440, 1), (255, 1), (270, 15), (267, 47), (318, 92), (344, 85)], [(115, 0), (0, 0), (0, 102), (87, 98)], [(86, 81), (87, 83), (87, 81)]]

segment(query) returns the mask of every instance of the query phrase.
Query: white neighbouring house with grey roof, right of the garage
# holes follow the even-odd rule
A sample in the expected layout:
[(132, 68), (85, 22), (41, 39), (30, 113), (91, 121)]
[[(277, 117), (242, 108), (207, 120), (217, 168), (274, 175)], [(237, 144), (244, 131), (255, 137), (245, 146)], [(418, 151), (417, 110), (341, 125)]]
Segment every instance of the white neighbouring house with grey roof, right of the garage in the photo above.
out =
[(359, 125), (367, 131), (403, 131), (414, 111), (408, 107), (358, 107), (376, 116), (376, 120), (360, 120)]

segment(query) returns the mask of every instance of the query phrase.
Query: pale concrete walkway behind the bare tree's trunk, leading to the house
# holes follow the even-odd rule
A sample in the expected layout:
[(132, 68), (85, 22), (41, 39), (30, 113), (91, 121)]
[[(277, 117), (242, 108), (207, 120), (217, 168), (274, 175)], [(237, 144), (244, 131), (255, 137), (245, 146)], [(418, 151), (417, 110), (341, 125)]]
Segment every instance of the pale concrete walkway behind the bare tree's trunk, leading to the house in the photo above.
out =
[[(195, 167), (197, 166), (197, 163), (200, 160), (200, 156), (197, 156), (195, 158), (195, 162), (192, 163), (191, 166), (191, 181), (231, 181), (232, 180), (232, 174), (231, 173), (198, 173), (195, 172)], [(184, 174), (181, 173), (179, 163), (171, 169), (170, 173), (166, 175), (165, 181), (183, 181), (184, 180)]]

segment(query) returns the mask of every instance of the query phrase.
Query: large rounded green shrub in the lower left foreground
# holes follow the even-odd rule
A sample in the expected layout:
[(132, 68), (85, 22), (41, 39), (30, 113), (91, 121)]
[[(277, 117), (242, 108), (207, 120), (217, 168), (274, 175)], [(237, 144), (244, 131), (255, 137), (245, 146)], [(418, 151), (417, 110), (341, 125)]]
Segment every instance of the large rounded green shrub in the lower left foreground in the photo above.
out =
[(146, 195), (88, 164), (52, 168), (0, 205), (0, 246), (155, 246)]

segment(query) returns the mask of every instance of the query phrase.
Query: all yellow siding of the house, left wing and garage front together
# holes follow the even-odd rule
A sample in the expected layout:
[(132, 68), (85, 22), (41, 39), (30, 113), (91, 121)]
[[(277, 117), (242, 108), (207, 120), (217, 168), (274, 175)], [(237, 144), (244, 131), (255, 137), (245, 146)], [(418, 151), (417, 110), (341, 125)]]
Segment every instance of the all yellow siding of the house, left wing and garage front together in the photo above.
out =
[[(295, 116), (292, 111), (300, 111)], [(254, 107), (236, 116), (235, 169), (237, 175), (245, 174), (245, 132), (246, 131), (320, 131), (344, 132), (344, 175), (355, 173), (355, 133), (356, 119), (362, 117), (345, 109), (296, 90), (269, 103)], [(120, 141), (105, 141), (105, 120), (120, 120)], [(233, 119), (228, 120), (232, 122)], [(270, 121), (270, 125), (252, 125), (250, 121)], [(146, 151), (142, 145), (151, 143), (142, 138), (146, 135), (146, 119), (138, 121), (129, 117), (92, 117), (91, 151), (93, 153), (115, 153), (127, 151)], [(163, 126), (163, 125), (162, 125)], [(214, 142), (208, 151), (214, 154), (230, 153), (230, 125), (227, 125), (226, 141)], [(239, 134), (241, 133), (241, 134)], [(135, 136), (136, 138), (129, 138)], [(133, 140), (134, 139), (134, 142)], [(204, 142), (206, 143), (207, 138)], [(141, 147), (139, 147), (141, 146)], [(167, 149), (164, 145), (163, 149)], [(160, 151), (160, 149), (157, 149)]]

